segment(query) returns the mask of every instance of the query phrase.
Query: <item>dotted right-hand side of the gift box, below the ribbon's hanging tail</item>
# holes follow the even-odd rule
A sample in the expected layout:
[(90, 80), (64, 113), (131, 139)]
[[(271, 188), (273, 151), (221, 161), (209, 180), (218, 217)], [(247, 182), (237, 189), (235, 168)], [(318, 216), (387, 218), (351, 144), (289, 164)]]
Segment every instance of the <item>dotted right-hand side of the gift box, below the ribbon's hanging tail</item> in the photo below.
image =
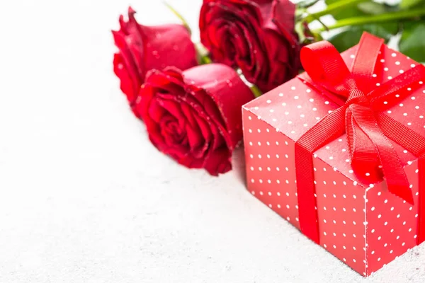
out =
[[(405, 168), (412, 185), (414, 205), (404, 202), (387, 191), (385, 182), (368, 189), (366, 219), (368, 229), (368, 270), (379, 270), (383, 265), (416, 246), (419, 184), (417, 162)], [(368, 272), (368, 274), (370, 274)]]

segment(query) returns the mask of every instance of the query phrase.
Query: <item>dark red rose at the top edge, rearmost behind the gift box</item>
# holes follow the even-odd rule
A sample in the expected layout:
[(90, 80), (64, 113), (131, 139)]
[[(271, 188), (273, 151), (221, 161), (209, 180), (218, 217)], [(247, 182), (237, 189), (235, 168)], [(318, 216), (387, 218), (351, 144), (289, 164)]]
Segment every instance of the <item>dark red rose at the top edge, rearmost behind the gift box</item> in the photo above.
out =
[(239, 67), (263, 92), (298, 74), (300, 45), (289, 0), (204, 0), (199, 27), (212, 59)]

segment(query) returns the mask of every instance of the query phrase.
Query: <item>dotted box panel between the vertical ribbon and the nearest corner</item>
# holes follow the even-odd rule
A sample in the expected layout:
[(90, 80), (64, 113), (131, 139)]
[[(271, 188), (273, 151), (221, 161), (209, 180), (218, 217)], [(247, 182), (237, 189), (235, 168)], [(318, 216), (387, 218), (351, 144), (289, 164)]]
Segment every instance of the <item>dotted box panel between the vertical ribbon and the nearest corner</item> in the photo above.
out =
[(340, 260), (349, 260), (348, 265), (353, 270), (366, 272), (363, 264), (365, 190), (359, 185), (353, 185), (353, 181), (350, 182), (344, 175), (334, 171), (325, 161), (313, 158), (313, 164), (314, 168), (317, 168), (316, 172), (319, 172), (314, 173), (314, 178), (317, 183), (320, 245)]

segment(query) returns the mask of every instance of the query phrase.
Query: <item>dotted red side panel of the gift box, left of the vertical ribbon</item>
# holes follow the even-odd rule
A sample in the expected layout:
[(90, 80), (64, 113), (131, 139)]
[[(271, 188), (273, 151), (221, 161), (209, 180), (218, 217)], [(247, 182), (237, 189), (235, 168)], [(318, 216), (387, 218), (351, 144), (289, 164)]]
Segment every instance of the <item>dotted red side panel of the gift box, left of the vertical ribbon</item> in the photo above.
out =
[[(256, 118), (249, 122), (252, 130), (248, 131), (249, 136), (246, 138), (252, 141), (252, 145), (248, 144), (248, 150), (245, 151), (246, 154), (249, 152), (246, 155), (246, 168), (250, 176), (247, 179), (249, 190), (261, 202), (300, 229), (295, 187), (294, 141), (277, 132), (263, 120)], [(261, 133), (257, 129), (260, 129)]]

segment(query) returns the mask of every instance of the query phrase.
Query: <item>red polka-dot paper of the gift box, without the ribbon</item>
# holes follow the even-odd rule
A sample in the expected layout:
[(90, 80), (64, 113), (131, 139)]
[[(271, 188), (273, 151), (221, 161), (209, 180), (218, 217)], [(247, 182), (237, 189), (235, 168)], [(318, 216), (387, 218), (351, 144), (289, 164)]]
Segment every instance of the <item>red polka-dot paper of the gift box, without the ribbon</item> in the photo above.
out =
[[(358, 46), (341, 56), (351, 67)], [(373, 75), (379, 86), (416, 66), (382, 47)], [(425, 83), (387, 115), (425, 137)], [(248, 190), (300, 229), (295, 141), (339, 106), (295, 78), (243, 106)], [(314, 152), (319, 244), (363, 276), (416, 246), (419, 216), (418, 158), (391, 141), (411, 184), (414, 205), (388, 192), (385, 181), (364, 183), (350, 165), (346, 134)]]

